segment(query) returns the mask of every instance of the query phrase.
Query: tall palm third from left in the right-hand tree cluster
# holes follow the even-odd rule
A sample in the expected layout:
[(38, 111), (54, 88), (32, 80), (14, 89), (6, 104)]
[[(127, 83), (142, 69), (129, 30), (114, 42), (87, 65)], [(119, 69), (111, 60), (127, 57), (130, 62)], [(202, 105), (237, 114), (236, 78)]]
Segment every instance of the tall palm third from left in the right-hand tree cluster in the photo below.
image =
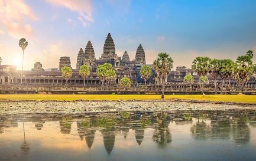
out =
[(230, 59), (224, 59), (219, 61), (219, 76), (222, 78), (221, 93), (223, 93), (223, 87), (225, 80), (231, 78), (234, 73), (234, 61)]

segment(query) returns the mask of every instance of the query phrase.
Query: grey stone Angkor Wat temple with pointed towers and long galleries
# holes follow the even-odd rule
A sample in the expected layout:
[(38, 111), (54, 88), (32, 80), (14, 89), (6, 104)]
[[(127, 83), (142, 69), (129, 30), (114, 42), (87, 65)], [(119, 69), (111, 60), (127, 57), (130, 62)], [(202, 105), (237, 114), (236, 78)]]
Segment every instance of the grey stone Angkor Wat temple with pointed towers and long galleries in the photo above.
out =
[[(124, 51), (122, 57), (118, 57), (115, 50), (115, 43), (108, 34), (105, 43), (103, 45), (103, 52), (99, 59), (95, 58), (95, 51), (93, 49), (93, 44), (88, 41), (85, 50), (80, 48), (77, 54), (76, 69), (73, 69), (72, 78), (68, 81), (69, 86), (83, 86), (83, 78), (79, 75), (79, 68), (81, 65), (86, 64), (90, 68), (90, 75), (85, 80), (86, 86), (97, 86), (101, 84), (101, 80), (96, 75), (96, 68), (98, 65), (104, 63), (112, 64), (112, 67), (116, 71), (116, 84), (122, 77), (128, 77), (131, 79), (132, 86), (137, 86), (138, 84), (144, 84), (144, 80), (140, 76), (140, 69), (142, 65), (149, 65), (152, 69), (151, 78), (147, 81), (147, 84), (158, 84), (157, 78), (155, 78), (155, 71), (152, 64), (146, 64), (145, 61), (146, 53), (142, 45), (138, 45), (137, 51), (135, 53), (135, 60), (130, 60), (127, 51)], [(61, 68), (64, 66), (71, 67), (70, 57), (60, 57), (59, 68), (50, 68), (44, 70), (43, 65), (40, 62), (34, 64), (34, 68), (31, 71), (23, 71), (22, 84), (24, 86), (61, 86), (66, 84), (66, 80), (61, 76)], [(187, 74), (192, 74), (193, 71), (186, 67), (177, 67), (176, 71), (171, 71), (168, 75), (167, 83), (182, 83), (183, 78)], [(195, 82), (199, 81), (198, 75), (193, 75)], [(209, 82), (213, 81), (213, 78), (208, 75)], [(218, 78), (219, 83), (221, 78)], [(21, 71), (16, 70), (15, 65), (0, 65), (0, 84), (2, 86), (8, 85), (18, 85), (21, 83)], [(226, 80), (229, 83), (229, 80)], [(248, 84), (252, 87), (256, 87), (255, 77), (251, 77)], [(231, 80), (231, 85), (235, 86), (235, 80)]]

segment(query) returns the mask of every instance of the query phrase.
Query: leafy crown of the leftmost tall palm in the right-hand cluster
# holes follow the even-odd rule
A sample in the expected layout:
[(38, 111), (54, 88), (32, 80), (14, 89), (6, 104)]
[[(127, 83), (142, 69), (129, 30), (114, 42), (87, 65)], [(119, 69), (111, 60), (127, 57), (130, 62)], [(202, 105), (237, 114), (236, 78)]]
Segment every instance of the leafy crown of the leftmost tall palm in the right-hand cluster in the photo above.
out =
[(205, 76), (210, 70), (210, 58), (209, 57), (196, 57), (192, 63), (192, 70), (199, 76)]

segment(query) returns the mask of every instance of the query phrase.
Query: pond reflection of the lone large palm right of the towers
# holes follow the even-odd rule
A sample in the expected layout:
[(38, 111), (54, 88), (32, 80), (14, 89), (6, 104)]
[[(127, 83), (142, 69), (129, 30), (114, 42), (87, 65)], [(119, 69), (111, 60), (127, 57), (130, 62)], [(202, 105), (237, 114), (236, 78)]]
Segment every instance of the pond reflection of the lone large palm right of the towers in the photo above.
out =
[(170, 118), (168, 118), (167, 114), (164, 112), (157, 113), (156, 117), (158, 126), (153, 133), (153, 141), (156, 142), (158, 146), (165, 147), (171, 142), (171, 133), (168, 128)]

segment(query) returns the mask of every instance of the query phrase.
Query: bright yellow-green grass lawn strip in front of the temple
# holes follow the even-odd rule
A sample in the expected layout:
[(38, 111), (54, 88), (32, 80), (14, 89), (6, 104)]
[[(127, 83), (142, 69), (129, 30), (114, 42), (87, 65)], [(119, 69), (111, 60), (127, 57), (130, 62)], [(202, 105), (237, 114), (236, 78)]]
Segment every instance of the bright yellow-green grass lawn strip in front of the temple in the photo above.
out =
[[(111, 94), (0, 94), (0, 100), (161, 100), (161, 95)], [(256, 95), (165, 95), (167, 99), (234, 101), (256, 103)]]

